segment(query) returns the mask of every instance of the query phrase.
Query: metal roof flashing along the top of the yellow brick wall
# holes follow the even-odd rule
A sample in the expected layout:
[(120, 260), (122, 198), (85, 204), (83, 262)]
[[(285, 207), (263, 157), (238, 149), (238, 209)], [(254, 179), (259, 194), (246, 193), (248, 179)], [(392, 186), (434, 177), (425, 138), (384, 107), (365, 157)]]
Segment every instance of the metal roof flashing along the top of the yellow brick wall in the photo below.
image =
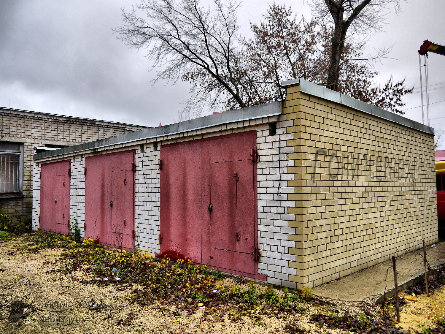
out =
[(427, 134), (434, 135), (434, 129), (425, 124), (415, 122), (409, 118), (403, 117), (400, 114), (392, 113), (388, 110), (373, 106), (369, 103), (362, 102), (356, 98), (351, 98), (348, 95), (340, 94), (334, 90), (330, 90), (326, 87), (316, 85), (310, 81), (304, 79), (292, 79), (283, 81), (281, 87), (287, 88), (287, 86), (299, 84), (300, 92), (316, 96), (318, 98), (324, 98), (325, 100), (332, 101), (343, 106), (348, 106), (352, 109), (363, 111), (366, 114), (371, 114), (379, 118), (386, 119), (388, 121), (401, 124), (410, 127), (415, 130), (425, 132)]

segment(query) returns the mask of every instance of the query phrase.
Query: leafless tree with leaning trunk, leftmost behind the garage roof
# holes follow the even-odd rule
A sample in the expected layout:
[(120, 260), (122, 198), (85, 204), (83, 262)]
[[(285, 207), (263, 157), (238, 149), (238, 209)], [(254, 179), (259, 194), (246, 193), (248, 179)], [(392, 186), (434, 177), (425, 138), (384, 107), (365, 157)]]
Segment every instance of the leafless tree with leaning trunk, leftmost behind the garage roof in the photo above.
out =
[(216, 106), (229, 98), (245, 107), (237, 70), (239, 5), (240, 0), (213, 0), (213, 7), (199, 0), (142, 0), (130, 12), (122, 8), (125, 25), (114, 31), (131, 48), (147, 49), (152, 69), (163, 67), (155, 81), (192, 81), (189, 106)]

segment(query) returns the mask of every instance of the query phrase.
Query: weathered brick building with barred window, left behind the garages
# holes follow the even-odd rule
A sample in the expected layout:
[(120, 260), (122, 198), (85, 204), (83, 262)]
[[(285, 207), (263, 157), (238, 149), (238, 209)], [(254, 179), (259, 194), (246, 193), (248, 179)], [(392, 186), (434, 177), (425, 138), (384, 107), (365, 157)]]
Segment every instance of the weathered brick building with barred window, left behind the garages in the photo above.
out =
[(0, 206), (31, 221), (32, 155), (113, 137), (146, 126), (0, 108)]

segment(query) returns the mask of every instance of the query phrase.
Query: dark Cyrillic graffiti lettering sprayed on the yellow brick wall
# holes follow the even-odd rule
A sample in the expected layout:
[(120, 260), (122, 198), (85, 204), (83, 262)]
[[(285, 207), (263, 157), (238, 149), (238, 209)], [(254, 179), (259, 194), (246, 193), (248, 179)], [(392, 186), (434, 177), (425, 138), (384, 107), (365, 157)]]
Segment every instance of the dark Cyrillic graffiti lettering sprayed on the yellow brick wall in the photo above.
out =
[[(316, 151), (312, 172), (312, 183), (315, 183), (317, 168), (321, 168), (321, 162), (328, 162), (328, 175), (336, 180), (358, 180), (359, 175), (367, 175), (372, 181), (384, 182), (410, 182), (416, 185), (414, 162), (400, 156), (383, 156), (368, 154), (352, 154), (345, 152), (332, 152), (329, 154), (324, 149)], [(324, 168), (326, 173), (326, 168)]]

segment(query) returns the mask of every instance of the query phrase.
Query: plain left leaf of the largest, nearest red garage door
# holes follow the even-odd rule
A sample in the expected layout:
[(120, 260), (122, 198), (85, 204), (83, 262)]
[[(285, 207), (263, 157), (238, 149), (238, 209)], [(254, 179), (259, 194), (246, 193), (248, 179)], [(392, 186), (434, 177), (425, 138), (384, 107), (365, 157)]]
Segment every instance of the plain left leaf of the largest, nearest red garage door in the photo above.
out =
[(161, 257), (201, 258), (201, 145), (161, 147)]

